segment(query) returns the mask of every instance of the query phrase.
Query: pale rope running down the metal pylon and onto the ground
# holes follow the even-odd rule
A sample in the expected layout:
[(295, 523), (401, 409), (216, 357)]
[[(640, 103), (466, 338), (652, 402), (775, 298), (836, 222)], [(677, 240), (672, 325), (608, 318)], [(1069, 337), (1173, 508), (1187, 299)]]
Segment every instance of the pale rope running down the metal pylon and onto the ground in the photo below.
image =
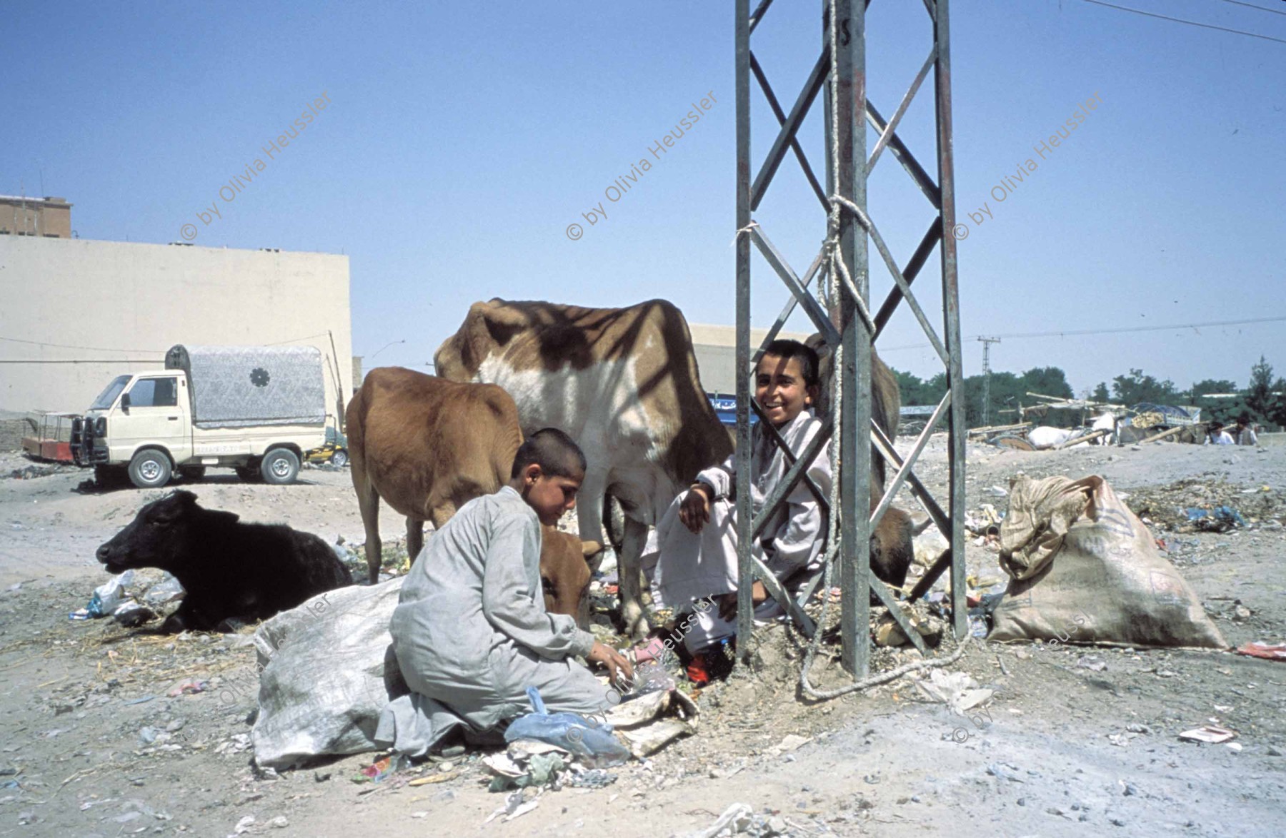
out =
[[(829, 0), (829, 39), (831, 39), (831, 84), (835, 85), (840, 77), (840, 58), (838, 58), (838, 44), (836, 37), (836, 0)], [(865, 127), (864, 125), (862, 126)], [(831, 95), (831, 159), (840, 159), (840, 104), (838, 96), (832, 93)], [(836, 190), (838, 190), (838, 179), (836, 177)], [(829, 262), (829, 270), (827, 279), (829, 280), (829, 297), (832, 301), (838, 302), (841, 293), (841, 284), (853, 296), (853, 301), (856, 305), (858, 312), (862, 316), (863, 324), (874, 334), (874, 320), (872, 320), (869, 311), (867, 310), (865, 302), (862, 296), (858, 294), (856, 285), (853, 278), (849, 275), (847, 267), (844, 265), (842, 247), (840, 244), (840, 220), (841, 212), (847, 208), (853, 212), (859, 221), (863, 222), (863, 229), (869, 230), (869, 224), (865, 220), (865, 213), (854, 204), (847, 198), (836, 192), (831, 195), (831, 209), (827, 216), (827, 235), (824, 247), (827, 251), (827, 261)], [(820, 288), (822, 283), (818, 283)], [(833, 374), (831, 375), (831, 410), (832, 410), (832, 423), (838, 427), (838, 419), (842, 415), (844, 409), (844, 375), (840, 374), (840, 369), (844, 365), (844, 346), (835, 347), (835, 362), (831, 369)], [(838, 476), (840, 473), (840, 446), (831, 445), (831, 473)], [(832, 698), (838, 698), (840, 695), (846, 695), (849, 693), (856, 693), (859, 690), (869, 689), (878, 684), (885, 684), (887, 681), (896, 680), (903, 675), (909, 672), (916, 672), (919, 670), (930, 670), (936, 667), (948, 666), (954, 663), (964, 654), (964, 649), (972, 640), (972, 635), (964, 635), (964, 640), (961, 643), (959, 648), (955, 649), (950, 655), (941, 659), (934, 661), (913, 661), (910, 663), (904, 663), (896, 668), (887, 672), (880, 672), (878, 675), (872, 675), (856, 680), (851, 684), (845, 684), (829, 690), (822, 690), (809, 681), (809, 671), (813, 668), (813, 661), (817, 658), (817, 652), (822, 645), (822, 630), (826, 627), (826, 618), (831, 611), (831, 581), (835, 575), (835, 566), (837, 564), (837, 558), (840, 554), (840, 481), (831, 481), (831, 513), (829, 521), (827, 522), (827, 549), (822, 558), (826, 566), (826, 575), (823, 577), (824, 591), (822, 599), (822, 614), (817, 621), (817, 631), (813, 632), (813, 639), (809, 640), (808, 650), (804, 653), (804, 663), (800, 667), (800, 689), (809, 698), (817, 700), (828, 700)], [(856, 594), (854, 594), (856, 595)], [(865, 594), (863, 594), (865, 595)]]

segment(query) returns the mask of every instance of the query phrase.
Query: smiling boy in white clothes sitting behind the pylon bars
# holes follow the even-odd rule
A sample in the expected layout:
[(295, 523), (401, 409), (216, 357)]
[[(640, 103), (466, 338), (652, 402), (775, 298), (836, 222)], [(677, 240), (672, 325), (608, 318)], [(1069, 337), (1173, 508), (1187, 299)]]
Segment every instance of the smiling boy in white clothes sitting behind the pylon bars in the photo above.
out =
[[(822, 422), (813, 415), (818, 397), (817, 352), (799, 341), (773, 341), (764, 351), (755, 373), (755, 401), (768, 422), (799, 456)], [(652, 596), (658, 607), (685, 612), (696, 599), (712, 596), (718, 611), (697, 612), (685, 622), (683, 643), (700, 654), (736, 631), (737, 618), (737, 524), (733, 495), (737, 486), (737, 458), (705, 469), (684, 494), (675, 499), (657, 526), (658, 553), (647, 557)], [(763, 424), (751, 431), (751, 508), (759, 514), (764, 500), (786, 476), (788, 464), (773, 445)], [(831, 488), (828, 446), (809, 465), (809, 477), (823, 491)], [(676, 524), (682, 523), (679, 527)], [(755, 555), (773, 575), (797, 589), (820, 571), (824, 518), (817, 499), (804, 482), (787, 495), (754, 545)], [(653, 569), (655, 568), (655, 569)], [(784, 613), (761, 582), (751, 589), (755, 618), (769, 620)], [(660, 639), (635, 650), (638, 661), (658, 657)], [(698, 662), (700, 668), (700, 662)]]

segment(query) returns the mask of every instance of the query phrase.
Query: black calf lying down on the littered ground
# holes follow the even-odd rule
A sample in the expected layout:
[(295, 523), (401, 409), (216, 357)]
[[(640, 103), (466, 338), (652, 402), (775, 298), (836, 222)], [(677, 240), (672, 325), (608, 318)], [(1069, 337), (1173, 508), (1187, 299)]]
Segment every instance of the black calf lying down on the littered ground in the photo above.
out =
[(352, 584), (334, 550), (284, 524), (246, 524), (230, 512), (202, 509), (188, 491), (153, 501), (98, 549), (108, 572), (157, 567), (186, 589), (165, 634), (213, 631), (229, 617), (265, 620), (310, 596)]

